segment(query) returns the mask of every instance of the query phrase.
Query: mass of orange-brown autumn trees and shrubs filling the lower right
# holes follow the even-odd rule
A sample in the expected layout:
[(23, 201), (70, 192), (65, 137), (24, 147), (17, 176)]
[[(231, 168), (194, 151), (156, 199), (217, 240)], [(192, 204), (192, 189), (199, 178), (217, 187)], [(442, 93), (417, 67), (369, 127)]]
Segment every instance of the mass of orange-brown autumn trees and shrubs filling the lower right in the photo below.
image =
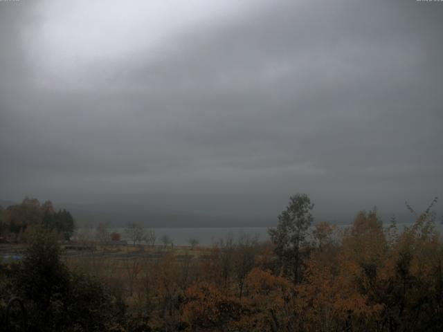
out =
[[(304, 206), (308, 213), (310, 204)], [(296, 279), (275, 269), (276, 260), (296, 250), (290, 240), (297, 228), (285, 218), (271, 232), (272, 245), (255, 253), (241, 300), (235, 284), (220, 288), (210, 282), (212, 275), (224, 284), (219, 249), (213, 249), (208, 282), (186, 291), (182, 319), (189, 331), (443, 330), (443, 245), (431, 207), (403, 232), (395, 219), (383, 225), (375, 209), (359, 212), (342, 233), (317, 224), (311, 234), (316, 246), (296, 247), (304, 267)]]

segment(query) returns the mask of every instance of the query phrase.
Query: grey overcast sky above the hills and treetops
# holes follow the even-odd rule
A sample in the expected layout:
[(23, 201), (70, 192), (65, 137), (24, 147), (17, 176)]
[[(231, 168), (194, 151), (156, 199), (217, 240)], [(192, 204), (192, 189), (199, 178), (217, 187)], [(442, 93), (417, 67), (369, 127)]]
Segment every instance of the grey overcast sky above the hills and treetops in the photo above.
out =
[(443, 3), (0, 1), (0, 199), (424, 209), (442, 79)]

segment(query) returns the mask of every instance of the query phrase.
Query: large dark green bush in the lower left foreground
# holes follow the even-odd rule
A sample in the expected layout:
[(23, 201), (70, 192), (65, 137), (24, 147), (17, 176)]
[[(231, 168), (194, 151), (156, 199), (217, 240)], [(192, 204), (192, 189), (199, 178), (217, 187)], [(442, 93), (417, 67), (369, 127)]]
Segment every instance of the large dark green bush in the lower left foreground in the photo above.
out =
[(123, 331), (123, 302), (98, 279), (70, 272), (56, 239), (39, 230), (23, 261), (2, 268), (3, 302), (23, 299), (29, 331)]

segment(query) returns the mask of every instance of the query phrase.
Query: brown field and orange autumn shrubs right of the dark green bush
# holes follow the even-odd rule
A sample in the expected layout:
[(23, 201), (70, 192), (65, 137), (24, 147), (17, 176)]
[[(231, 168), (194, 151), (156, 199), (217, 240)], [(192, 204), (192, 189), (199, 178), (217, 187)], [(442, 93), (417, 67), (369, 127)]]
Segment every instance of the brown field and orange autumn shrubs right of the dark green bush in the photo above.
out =
[[(288, 228), (298, 220), (284, 218)], [(435, 219), (428, 209), (398, 232), (374, 210), (342, 232), (301, 225), (292, 228), (296, 261), (282, 256), (293, 250), (287, 244), (250, 237), (212, 248), (97, 246), (62, 257), (122, 300), (120, 331), (441, 331)]]

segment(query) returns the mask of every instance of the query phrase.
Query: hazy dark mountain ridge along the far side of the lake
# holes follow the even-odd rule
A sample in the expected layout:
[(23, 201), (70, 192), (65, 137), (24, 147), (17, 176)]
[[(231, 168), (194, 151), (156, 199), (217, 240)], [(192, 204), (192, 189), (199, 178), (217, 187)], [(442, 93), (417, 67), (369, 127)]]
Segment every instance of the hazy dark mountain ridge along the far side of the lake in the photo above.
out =
[[(41, 203), (43, 203), (41, 201)], [(82, 225), (97, 225), (100, 222), (109, 223), (112, 227), (123, 227), (129, 222), (141, 223), (150, 228), (253, 228), (275, 227), (278, 223), (278, 213), (268, 215), (242, 216), (229, 214), (209, 214), (159, 208), (148, 203), (134, 202), (102, 202), (102, 203), (62, 203), (53, 202), (56, 210), (66, 209), (73, 215), (76, 223)], [(19, 202), (0, 199), (0, 206), (7, 208)], [(349, 225), (358, 211), (343, 213), (316, 212), (314, 208), (314, 223), (328, 221), (338, 225)], [(413, 222), (414, 216), (404, 210), (397, 212), (397, 223)], [(392, 212), (380, 213), (384, 223), (388, 223)], [(441, 223), (441, 213), (437, 212), (437, 223)]]

